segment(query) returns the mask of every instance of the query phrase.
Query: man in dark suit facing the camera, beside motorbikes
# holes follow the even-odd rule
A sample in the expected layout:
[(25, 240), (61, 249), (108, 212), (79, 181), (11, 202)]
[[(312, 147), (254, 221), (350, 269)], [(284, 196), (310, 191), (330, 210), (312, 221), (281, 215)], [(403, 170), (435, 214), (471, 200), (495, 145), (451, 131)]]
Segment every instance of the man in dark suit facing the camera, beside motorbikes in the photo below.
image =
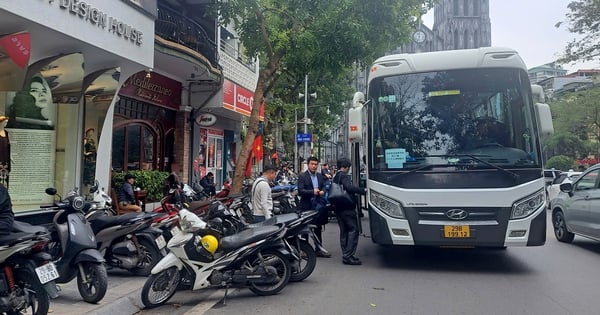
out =
[(311, 156), (307, 160), (308, 169), (298, 176), (298, 193), (300, 195), (300, 211), (317, 210), (319, 214), (315, 217), (313, 224), (316, 225), (315, 235), (317, 236), (317, 256), (331, 257), (331, 254), (321, 245), (323, 242), (323, 225), (327, 223), (327, 209), (325, 208), (325, 177), (317, 172), (319, 159)]

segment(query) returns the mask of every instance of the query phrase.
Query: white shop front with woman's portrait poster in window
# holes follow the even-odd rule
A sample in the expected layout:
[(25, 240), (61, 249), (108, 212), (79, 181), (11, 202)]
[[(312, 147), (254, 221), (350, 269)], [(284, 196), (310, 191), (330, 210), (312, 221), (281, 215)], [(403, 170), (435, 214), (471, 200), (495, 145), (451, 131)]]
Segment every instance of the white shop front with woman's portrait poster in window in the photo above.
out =
[(51, 202), (47, 187), (64, 195), (96, 179), (106, 185), (108, 168), (98, 176), (112, 136), (106, 118), (125, 79), (153, 66), (153, 8), (155, 1), (2, 1), (0, 183), (15, 212)]

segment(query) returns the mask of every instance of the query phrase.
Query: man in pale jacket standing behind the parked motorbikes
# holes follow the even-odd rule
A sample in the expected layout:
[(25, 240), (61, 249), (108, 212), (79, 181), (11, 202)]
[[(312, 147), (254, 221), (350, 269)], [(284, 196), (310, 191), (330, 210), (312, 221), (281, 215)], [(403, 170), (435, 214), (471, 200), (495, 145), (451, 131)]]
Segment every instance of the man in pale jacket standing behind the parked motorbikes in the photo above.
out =
[(269, 183), (277, 176), (277, 168), (271, 164), (263, 167), (262, 175), (252, 184), (252, 212), (254, 222), (268, 220), (273, 216), (273, 197)]

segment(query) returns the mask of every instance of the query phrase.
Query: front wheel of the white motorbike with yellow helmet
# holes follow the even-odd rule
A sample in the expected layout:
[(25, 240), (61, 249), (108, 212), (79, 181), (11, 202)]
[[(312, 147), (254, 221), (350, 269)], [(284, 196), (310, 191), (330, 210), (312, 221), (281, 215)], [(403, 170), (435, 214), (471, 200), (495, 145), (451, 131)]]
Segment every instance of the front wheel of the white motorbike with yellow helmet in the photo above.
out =
[(148, 308), (165, 304), (177, 291), (180, 279), (175, 267), (150, 275), (142, 288), (142, 303)]

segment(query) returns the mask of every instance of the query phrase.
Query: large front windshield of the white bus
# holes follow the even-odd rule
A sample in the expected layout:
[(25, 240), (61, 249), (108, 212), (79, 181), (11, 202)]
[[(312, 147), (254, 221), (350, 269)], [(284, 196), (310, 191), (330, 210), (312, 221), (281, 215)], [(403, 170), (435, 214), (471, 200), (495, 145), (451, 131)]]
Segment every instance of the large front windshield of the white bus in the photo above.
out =
[(374, 171), (541, 167), (527, 74), (461, 69), (374, 78)]

